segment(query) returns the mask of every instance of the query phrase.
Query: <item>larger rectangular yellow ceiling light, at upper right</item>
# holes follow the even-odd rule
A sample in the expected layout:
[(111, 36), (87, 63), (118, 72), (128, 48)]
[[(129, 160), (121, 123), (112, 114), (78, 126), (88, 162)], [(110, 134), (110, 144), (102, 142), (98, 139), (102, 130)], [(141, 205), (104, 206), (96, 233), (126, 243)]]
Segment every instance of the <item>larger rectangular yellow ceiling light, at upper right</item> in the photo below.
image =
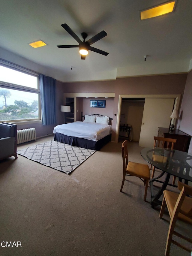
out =
[(166, 2), (164, 4), (149, 8), (145, 11), (140, 11), (140, 19), (150, 19), (153, 17), (158, 17), (173, 11), (176, 1)]

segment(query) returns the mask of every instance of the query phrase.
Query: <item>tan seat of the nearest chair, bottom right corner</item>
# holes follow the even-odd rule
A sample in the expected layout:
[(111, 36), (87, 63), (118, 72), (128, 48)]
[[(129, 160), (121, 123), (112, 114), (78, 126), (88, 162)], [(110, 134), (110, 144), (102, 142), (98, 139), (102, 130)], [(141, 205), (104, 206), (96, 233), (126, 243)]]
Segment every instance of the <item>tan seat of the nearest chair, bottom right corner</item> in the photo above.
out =
[[(173, 209), (176, 205), (176, 201), (179, 197), (179, 194), (174, 193), (172, 191), (164, 190), (164, 197), (165, 201), (167, 203), (168, 210), (170, 213), (170, 217), (173, 215)], [(181, 210), (184, 212), (188, 212), (188, 210), (192, 207), (192, 198), (191, 197), (185, 197), (184, 202), (182, 203)], [(184, 216), (182, 213), (179, 213), (178, 218), (181, 220), (184, 220), (190, 224), (192, 224), (192, 219)]]

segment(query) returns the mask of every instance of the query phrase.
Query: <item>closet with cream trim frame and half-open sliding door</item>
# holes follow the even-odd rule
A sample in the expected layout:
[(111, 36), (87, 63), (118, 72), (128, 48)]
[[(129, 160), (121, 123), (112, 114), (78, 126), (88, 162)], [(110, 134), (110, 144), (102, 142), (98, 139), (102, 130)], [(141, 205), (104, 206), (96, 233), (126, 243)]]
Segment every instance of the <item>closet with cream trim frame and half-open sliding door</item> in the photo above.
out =
[[(122, 137), (119, 137), (119, 135), (122, 136), (122, 134), (120, 134), (120, 124), (125, 123), (132, 126), (133, 133), (131, 135), (131, 140), (139, 141), (140, 147), (152, 146), (154, 143), (153, 136), (157, 136), (158, 134), (158, 127), (170, 127), (171, 113), (173, 112), (173, 109), (179, 110), (180, 99), (180, 94), (119, 95), (115, 142), (118, 142), (119, 138), (122, 140)], [(134, 102), (131, 101), (136, 101), (135, 104), (140, 103), (144, 105), (144, 108), (142, 107), (143, 118), (142, 121), (140, 121), (141, 128), (138, 129), (138, 132), (136, 132), (136, 128), (134, 128), (130, 120), (126, 119), (126, 114), (128, 114), (127, 104), (134, 104)], [(121, 114), (125, 114), (125, 118), (124, 115)], [(142, 116), (141, 113), (140, 115)], [(137, 121), (139, 119), (139, 114), (137, 115), (136, 113), (133, 119), (134, 121)], [(172, 123), (175, 124), (173, 119), (171, 121), (171, 124)], [(135, 138), (135, 134), (138, 136), (139, 133), (140, 138)]]

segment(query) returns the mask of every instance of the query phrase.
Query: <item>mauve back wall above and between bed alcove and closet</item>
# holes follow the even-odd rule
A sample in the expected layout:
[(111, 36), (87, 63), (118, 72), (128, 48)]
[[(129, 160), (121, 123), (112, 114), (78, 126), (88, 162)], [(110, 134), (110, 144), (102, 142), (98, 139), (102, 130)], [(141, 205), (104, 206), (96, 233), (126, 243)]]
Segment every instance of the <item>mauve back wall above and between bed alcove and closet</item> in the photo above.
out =
[[(184, 93), (184, 87), (187, 74), (157, 75), (144, 77), (126, 77), (117, 78), (111, 81), (94, 81), (81, 83), (64, 83), (64, 92), (115, 92), (113, 103), (113, 131), (112, 140), (114, 140), (117, 110), (120, 94), (181, 94)], [(83, 108), (83, 113), (87, 109)]]

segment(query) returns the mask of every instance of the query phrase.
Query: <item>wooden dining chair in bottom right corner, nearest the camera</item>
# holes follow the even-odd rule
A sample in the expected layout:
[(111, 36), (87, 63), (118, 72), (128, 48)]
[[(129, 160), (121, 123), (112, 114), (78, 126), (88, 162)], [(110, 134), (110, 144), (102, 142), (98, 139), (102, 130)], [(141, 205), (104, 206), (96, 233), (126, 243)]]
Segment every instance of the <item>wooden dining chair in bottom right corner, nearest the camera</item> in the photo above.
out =
[(169, 211), (171, 218), (169, 231), (167, 236), (167, 244), (165, 249), (165, 255), (168, 256), (170, 253), (171, 243), (179, 246), (180, 248), (191, 252), (191, 249), (185, 245), (175, 241), (173, 235), (179, 236), (180, 238), (192, 243), (192, 239), (186, 237), (174, 230), (177, 219), (180, 219), (188, 224), (192, 225), (192, 198), (186, 195), (192, 196), (192, 187), (178, 181), (178, 189), (181, 191), (180, 194), (164, 190), (164, 199), (161, 206), (161, 212), (159, 218), (163, 217), (165, 206)]

